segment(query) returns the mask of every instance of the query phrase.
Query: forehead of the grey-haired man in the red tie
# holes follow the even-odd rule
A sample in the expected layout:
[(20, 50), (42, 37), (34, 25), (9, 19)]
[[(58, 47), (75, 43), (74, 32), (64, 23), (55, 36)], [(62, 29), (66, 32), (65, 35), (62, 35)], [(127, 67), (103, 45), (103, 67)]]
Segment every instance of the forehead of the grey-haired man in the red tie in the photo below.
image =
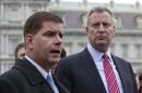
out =
[(88, 16), (88, 21), (107, 21), (107, 22), (111, 22), (113, 16), (108, 12), (94, 12)]

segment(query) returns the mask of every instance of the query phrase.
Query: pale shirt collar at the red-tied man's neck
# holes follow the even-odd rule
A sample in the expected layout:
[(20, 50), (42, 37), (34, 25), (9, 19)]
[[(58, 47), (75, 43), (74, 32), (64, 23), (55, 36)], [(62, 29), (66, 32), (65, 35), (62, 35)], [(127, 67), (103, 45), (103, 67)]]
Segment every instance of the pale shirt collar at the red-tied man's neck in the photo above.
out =
[[(99, 61), (102, 59), (102, 56), (103, 56), (104, 53), (98, 52), (97, 50), (95, 50), (95, 49), (91, 45), (91, 43), (87, 44), (87, 50), (88, 50), (88, 52), (91, 53), (91, 55), (92, 55), (92, 57), (93, 57), (93, 59), (94, 59), (95, 62), (99, 62)], [(109, 49), (108, 49), (108, 51), (106, 52), (106, 54), (107, 54), (107, 56), (108, 56), (108, 57), (110, 58), (110, 61), (111, 61), (111, 54), (110, 54), (110, 50), (109, 50)]]

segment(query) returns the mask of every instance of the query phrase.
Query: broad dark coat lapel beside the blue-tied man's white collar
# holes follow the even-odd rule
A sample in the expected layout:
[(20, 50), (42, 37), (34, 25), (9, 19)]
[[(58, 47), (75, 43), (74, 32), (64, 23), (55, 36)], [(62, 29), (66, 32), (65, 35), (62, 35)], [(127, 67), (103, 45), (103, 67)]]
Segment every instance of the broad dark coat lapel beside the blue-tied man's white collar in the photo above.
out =
[(42, 93), (54, 93), (50, 85), (46, 82), (40, 72), (26, 59), (17, 59), (15, 66), (13, 67), (20, 70), (32, 84)]

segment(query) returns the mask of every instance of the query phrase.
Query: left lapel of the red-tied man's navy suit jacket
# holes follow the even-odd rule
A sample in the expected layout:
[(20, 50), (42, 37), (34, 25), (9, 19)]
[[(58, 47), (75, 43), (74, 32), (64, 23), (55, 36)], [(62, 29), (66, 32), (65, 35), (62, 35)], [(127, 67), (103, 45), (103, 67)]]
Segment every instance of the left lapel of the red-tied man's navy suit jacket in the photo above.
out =
[(96, 65), (94, 64), (94, 61), (88, 53), (87, 49), (85, 49), (82, 52), (81, 55), (81, 64), (83, 68), (86, 70), (86, 74), (88, 74), (88, 77), (92, 78), (92, 81), (94, 81), (94, 87), (97, 87), (99, 90), (99, 93), (106, 93), (106, 89), (104, 87), (103, 80), (100, 78), (100, 75), (96, 68)]

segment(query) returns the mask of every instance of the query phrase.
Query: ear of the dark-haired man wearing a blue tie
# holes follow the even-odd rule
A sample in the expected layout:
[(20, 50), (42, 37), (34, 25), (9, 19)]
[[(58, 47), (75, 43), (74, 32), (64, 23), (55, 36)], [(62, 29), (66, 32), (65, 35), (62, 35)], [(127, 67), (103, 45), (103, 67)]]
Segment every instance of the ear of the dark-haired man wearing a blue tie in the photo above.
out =
[(31, 35), (31, 34), (27, 34), (25, 36), (25, 43), (26, 43), (27, 49), (29, 49), (29, 50), (33, 49), (33, 46), (34, 46), (34, 36)]

